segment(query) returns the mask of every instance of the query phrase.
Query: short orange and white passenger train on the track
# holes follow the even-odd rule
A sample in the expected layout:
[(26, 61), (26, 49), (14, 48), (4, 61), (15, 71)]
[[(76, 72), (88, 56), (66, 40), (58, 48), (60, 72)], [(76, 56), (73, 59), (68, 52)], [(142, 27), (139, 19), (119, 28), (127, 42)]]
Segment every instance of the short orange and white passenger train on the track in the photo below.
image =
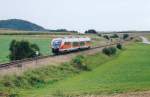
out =
[(91, 38), (89, 37), (54, 38), (51, 41), (51, 48), (54, 54), (90, 49)]

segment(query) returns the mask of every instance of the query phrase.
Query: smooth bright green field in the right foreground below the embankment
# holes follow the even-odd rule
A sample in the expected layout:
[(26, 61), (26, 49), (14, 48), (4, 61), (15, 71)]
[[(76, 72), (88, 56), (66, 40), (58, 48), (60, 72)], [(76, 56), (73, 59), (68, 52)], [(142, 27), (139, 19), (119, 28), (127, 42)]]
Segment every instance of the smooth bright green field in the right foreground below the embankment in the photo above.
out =
[(101, 64), (90, 72), (21, 93), (25, 97), (47, 97), (56, 92), (70, 95), (103, 95), (150, 90), (150, 53), (148, 52), (150, 45), (133, 43), (116, 59)]

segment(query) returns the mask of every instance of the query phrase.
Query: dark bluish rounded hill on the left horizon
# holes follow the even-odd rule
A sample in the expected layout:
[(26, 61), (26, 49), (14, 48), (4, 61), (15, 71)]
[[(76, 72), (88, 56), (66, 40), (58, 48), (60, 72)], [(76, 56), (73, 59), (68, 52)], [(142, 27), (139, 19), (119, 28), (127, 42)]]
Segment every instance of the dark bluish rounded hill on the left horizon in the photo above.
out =
[(45, 31), (45, 28), (20, 19), (0, 20), (0, 29), (13, 29), (25, 31)]

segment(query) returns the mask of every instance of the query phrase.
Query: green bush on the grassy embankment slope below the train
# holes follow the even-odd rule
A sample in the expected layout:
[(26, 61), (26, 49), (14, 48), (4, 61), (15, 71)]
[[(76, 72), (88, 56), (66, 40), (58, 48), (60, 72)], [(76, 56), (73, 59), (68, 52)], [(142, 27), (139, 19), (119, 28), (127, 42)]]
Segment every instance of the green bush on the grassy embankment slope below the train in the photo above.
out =
[(79, 70), (89, 70), (87, 65), (84, 64), (84, 56), (82, 55), (79, 55), (79, 56), (76, 56), (73, 60), (72, 60), (72, 65), (75, 67), (75, 68), (78, 68)]

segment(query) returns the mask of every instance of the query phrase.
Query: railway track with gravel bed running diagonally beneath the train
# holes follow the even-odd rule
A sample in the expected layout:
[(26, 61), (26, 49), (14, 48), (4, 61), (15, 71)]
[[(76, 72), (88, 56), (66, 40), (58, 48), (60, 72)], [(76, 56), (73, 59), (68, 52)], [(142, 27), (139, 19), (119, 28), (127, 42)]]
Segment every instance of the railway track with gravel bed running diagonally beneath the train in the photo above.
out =
[[(108, 46), (116, 45), (117, 43), (120, 43), (120, 42), (111, 43), (111, 44), (107, 44), (107, 45), (103, 45), (103, 46), (95, 46), (95, 47), (92, 47), (92, 48), (87, 49), (87, 50), (105, 48), (105, 47), (108, 47)], [(123, 42), (121, 42), (121, 43), (123, 43)], [(77, 51), (77, 52), (82, 52), (82, 51)], [(72, 52), (72, 53), (77, 53), (77, 52)], [(46, 56), (39, 56), (39, 57), (35, 57), (35, 58), (28, 58), (28, 59), (23, 59), (23, 60), (12, 61), (12, 62), (8, 62), (8, 63), (0, 64), (0, 70), (12, 68), (12, 67), (22, 67), (23, 65), (26, 65), (28, 63), (35, 62), (35, 61), (37, 62), (38, 60), (41, 60), (41, 59), (57, 57), (57, 56), (62, 56), (62, 55), (65, 56), (65, 55), (68, 55), (68, 54), (71, 54), (71, 53), (60, 54), (60, 55), (46, 55)]]

